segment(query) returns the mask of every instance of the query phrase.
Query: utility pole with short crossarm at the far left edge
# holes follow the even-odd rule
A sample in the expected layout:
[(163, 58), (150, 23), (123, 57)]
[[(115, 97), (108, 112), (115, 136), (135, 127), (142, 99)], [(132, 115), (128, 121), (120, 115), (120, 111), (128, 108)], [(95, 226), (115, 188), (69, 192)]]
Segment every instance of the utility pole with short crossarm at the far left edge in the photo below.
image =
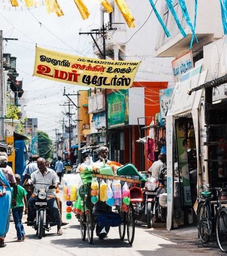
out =
[(0, 142), (5, 143), (4, 138), (4, 115), (5, 115), (5, 91), (3, 82), (3, 40), (18, 40), (17, 38), (3, 38), (2, 30), (0, 30)]

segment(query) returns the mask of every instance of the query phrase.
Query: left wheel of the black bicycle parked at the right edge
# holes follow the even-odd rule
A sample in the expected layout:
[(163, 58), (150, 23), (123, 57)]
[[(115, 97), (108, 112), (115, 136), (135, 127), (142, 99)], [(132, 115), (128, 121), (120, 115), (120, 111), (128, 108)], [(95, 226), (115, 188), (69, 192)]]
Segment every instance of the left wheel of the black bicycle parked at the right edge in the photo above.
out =
[(212, 222), (210, 219), (210, 210), (203, 203), (199, 204), (197, 210), (198, 235), (203, 244), (207, 244), (212, 233)]

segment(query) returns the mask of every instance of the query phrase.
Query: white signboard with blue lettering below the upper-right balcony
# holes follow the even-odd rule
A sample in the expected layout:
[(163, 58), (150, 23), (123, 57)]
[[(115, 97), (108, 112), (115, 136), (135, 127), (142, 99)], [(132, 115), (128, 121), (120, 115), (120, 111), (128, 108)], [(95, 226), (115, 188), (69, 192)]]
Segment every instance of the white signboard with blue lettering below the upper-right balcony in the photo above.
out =
[(172, 73), (174, 74), (174, 81), (179, 82), (181, 75), (193, 68), (192, 52), (189, 51), (183, 56), (172, 61)]

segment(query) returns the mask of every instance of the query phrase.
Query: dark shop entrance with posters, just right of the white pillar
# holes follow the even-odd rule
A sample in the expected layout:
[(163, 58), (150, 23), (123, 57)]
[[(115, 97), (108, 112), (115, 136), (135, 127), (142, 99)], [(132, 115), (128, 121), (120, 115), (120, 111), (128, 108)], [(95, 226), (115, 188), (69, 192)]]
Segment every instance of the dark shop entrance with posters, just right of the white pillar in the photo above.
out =
[(192, 116), (175, 119), (174, 215), (178, 226), (196, 222), (197, 200), (196, 138)]

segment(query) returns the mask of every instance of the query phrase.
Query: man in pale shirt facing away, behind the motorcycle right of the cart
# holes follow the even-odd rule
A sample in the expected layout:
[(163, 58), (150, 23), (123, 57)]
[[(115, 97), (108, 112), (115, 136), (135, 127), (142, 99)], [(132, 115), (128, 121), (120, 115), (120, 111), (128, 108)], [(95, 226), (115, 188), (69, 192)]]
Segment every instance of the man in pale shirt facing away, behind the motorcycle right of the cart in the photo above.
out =
[[(162, 179), (165, 176), (165, 164), (166, 164), (166, 154), (161, 153), (158, 155), (158, 160), (154, 161), (152, 166), (148, 169), (148, 172), (151, 172), (151, 177), (156, 178), (156, 179)], [(159, 201), (159, 196), (160, 194), (165, 192), (165, 187), (158, 187), (157, 189), (157, 197)], [(159, 202), (158, 202), (159, 204)], [(155, 212), (155, 223), (166, 222), (166, 208), (161, 208), (161, 219), (158, 218), (158, 209), (156, 209)]]

